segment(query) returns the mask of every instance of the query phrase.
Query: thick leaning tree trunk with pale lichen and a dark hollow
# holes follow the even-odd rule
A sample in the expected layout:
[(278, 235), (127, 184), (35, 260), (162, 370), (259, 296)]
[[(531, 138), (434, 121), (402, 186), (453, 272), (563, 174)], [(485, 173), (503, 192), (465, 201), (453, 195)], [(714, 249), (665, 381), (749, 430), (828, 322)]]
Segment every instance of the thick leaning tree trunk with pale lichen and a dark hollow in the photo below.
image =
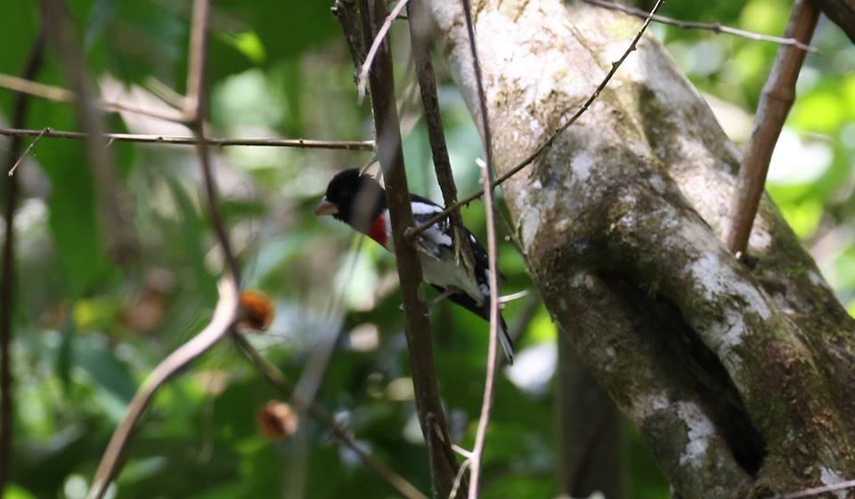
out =
[[(430, 6), (476, 115), (460, 3)], [(639, 21), (559, 0), (475, 10), (501, 173), (587, 98)], [(769, 199), (750, 267), (721, 245), (739, 163), (645, 37), (589, 112), (503, 186), (550, 312), (684, 497), (855, 476), (855, 324)]]

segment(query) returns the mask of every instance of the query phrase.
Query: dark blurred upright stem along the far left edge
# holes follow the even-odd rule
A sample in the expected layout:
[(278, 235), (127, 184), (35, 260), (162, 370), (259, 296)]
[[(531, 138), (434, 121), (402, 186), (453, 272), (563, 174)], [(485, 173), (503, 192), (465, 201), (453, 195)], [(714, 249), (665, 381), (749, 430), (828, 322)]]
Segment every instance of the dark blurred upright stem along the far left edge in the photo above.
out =
[[(33, 47), (30, 49), (22, 75), (25, 78), (36, 77), (42, 67), (45, 53), (45, 29), (40, 27)], [(29, 99), (19, 95), (12, 108), (12, 125), (24, 126), (27, 121)], [(23, 146), (20, 137), (10, 144), (4, 164), (15, 162)], [(9, 168), (9, 171), (14, 169)], [(5, 490), (12, 466), (12, 414), (14, 414), (12, 356), (12, 316), (15, 308), (15, 210), (18, 207), (20, 185), (16, 177), (7, 177), (5, 189), (4, 221), (6, 223), (3, 241), (3, 256), (0, 259), (0, 491)]]

